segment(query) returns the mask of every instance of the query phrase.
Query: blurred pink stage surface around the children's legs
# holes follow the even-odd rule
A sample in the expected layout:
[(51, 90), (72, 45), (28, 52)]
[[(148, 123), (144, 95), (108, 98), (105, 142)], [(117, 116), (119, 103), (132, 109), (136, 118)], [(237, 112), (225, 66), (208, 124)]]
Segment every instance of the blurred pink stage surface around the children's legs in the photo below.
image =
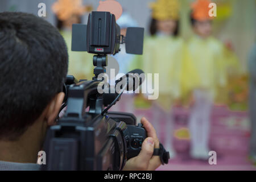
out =
[[(125, 98), (124, 98), (125, 99)], [(122, 101), (118, 105), (120, 110), (125, 110), (127, 105)], [(158, 112), (159, 108), (135, 110), (137, 117), (146, 117), (154, 126), (160, 125), (159, 140), (164, 143), (167, 134), (164, 131), (166, 119), (164, 114), (159, 114), (156, 121), (153, 120), (152, 112)], [(187, 127), (189, 109), (175, 107), (172, 109), (175, 122), (174, 128)], [(170, 121), (169, 121), (170, 122)], [(168, 165), (160, 166), (158, 170), (256, 170), (256, 166), (248, 159), (250, 139), (250, 125), (247, 112), (230, 111), (225, 106), (214, 106), (212, 111), (210, 150), (217, 152), (217, 165), (210, 165), (207, 161), (195, 160), (189, 156), (189, 140), (174, 138), (176, 156)]]

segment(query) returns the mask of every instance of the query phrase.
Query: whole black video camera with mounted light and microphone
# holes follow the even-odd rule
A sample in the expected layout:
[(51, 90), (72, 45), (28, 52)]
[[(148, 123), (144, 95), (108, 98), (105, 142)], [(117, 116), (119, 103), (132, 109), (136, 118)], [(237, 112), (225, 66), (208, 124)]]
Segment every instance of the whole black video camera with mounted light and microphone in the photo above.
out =
[[(125, 81), (121, 92), (99, 93), (102, 80), (97, 77), (106, 72), (107, 55), (118, 53), (119, 44), (126, 43), (127, 53), (142, 54), (143, 34), (143, 28), (131, 27), (127, 28), (126, 37), (120, 35), (115, 16), (109, 12), (93, 11), (87, 26), (73, 24), (72, 51), (96, 54), (95, 76), (90, 81), (67, 76), (61, 108), (67, 110), (57, 125), (48, 129), (44, 143), (47, 170), (122, 170), (126, 160), (139, 154), (146, 130), (141, 124), (135, 126), (133, 114), (108, 110), (119, 101), (124, 90), (135, 90), (135, 82), (141, 84), (142, 80), (126, 74), (115, 82)], [(131, 73), (139, 75), (142, 71)], [(169, 153), (161, 147), (154, 155), (162, 155), (162, 163), (168, 163)]]

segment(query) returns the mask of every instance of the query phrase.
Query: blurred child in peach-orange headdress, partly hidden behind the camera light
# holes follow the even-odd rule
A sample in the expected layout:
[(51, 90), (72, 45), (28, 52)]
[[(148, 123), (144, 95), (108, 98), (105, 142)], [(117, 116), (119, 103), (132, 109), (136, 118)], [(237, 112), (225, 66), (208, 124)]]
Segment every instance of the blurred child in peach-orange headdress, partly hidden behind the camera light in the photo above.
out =
[(91, 9), (90, 6), (83, 6), (81, 0), (58, 0), (52, 6), (52, 10), (57, 16), (57, 28), (68, 47), (68, 74), (75, 76), (78, 80), (92, 79), (93, 55), (87, 52), (71, 51), (72, 24), (81, 23), (81, 16)]

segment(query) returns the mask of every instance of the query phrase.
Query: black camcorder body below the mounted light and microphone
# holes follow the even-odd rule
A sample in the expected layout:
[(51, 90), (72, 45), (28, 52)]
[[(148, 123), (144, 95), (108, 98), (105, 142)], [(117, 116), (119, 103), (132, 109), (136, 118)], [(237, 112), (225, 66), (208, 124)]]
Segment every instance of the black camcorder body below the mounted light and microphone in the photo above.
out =
[[(97, 103), (104, 102), (104, 97), (98, 97), (99, 83), (67, 85), (65, 115), (47, 131), (47, 170), (121, 170), (127, 159), (141, 151), (147, 134), (141, 124), (135, 126), (133, 114), (95, 113)], [(111, 102), (109, 98), (105, 100)]]

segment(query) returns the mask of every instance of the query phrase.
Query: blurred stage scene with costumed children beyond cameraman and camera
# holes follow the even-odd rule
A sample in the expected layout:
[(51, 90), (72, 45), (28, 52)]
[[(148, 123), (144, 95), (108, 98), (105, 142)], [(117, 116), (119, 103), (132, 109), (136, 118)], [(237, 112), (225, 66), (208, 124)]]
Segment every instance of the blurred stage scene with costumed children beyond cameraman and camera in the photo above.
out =
[[(206, 0), (109, 3), (115, 2), (123, 9), (117, 21), (123, 34), (127, 27), (145, 28), (144, 52), (127, 55), (121, 47), (110, 67), (118, 62), (122, 73), (134, 68), (159, 73), (159, 98), (124, 94), (112, 110), (152, 122), (171, 152), (169, 164), (159, 170), (255, 170), (256, 1), (212, 1), (217, 5), (214, 19), (205, 15)], [(96, 11), (100, 1), (1, 0), (0, 12), (38, 15), (39, 3), (46, 4), (42, 18), (59, 28), (67, 42), (69, 74), (91, 79), (93, 55), (71, 52), (71, 25), (86, 24), (88, 12)], [(216, 165), (209, 164), (208, 151), (216, 151)]]

